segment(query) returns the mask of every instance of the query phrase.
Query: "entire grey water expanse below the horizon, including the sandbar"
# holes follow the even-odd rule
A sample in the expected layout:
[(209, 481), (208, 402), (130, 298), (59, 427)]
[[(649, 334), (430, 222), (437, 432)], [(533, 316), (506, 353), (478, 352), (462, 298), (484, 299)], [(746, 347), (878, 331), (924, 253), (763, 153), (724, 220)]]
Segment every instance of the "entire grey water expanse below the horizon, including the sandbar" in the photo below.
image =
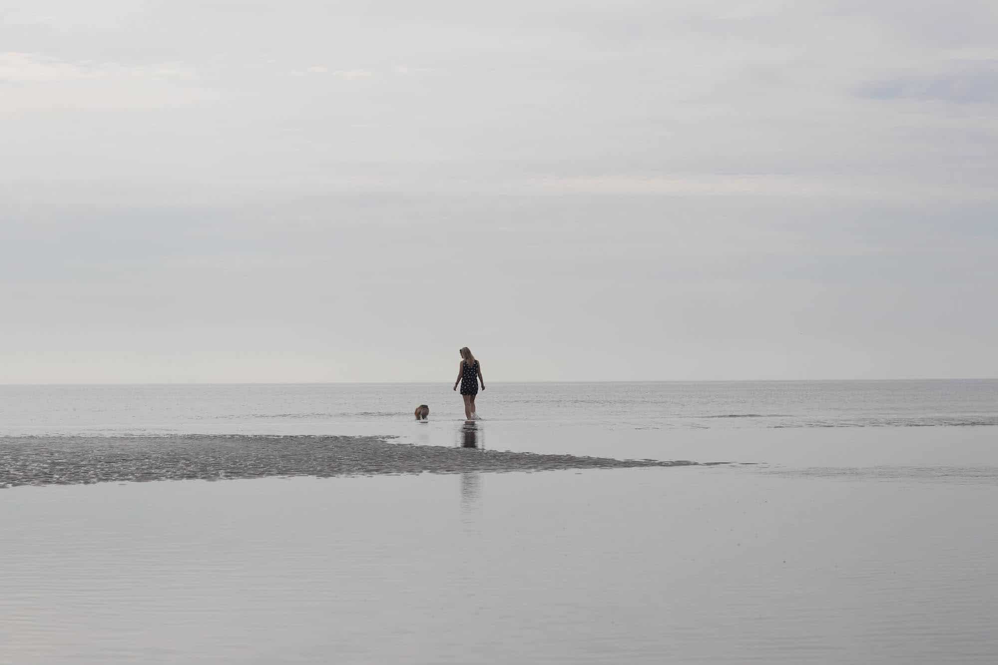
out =
[(998, 380), (477, 401), (0, 386), (0, 664), (998, 662)]

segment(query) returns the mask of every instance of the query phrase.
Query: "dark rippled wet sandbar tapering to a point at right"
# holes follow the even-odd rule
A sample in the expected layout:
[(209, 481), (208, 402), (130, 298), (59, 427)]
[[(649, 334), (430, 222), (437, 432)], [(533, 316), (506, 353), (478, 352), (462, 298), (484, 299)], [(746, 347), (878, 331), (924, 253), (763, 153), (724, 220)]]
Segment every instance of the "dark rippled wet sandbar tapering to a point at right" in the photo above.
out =
[(700, 463), (483, 450), (472, 447), (470, 437), (468, 443), (406, 445), (375, 436), (10, 436), (0, 438), (0, 487)]

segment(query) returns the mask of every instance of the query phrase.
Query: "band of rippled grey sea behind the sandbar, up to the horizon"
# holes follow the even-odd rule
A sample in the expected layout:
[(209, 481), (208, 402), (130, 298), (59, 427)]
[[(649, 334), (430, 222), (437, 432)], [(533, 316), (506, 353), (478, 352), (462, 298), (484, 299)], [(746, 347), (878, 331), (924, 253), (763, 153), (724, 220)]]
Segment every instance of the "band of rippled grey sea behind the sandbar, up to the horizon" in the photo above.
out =
[[(446, 383), (0, 385), (0, 434), (404, 433), (463, 417)], [(998, 424), (998, 380), (489, 383), (486, 419), (622, 428)], [(388, 431), (391, 430), (391, 431)]]

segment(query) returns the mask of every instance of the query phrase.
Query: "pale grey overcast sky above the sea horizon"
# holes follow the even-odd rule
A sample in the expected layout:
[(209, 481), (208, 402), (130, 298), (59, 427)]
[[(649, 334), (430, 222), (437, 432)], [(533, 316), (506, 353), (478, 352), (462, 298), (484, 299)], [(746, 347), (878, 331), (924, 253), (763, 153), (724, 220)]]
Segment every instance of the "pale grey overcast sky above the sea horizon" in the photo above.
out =
[(0, 21), (0, 382), (998, 375), (992, 1)]

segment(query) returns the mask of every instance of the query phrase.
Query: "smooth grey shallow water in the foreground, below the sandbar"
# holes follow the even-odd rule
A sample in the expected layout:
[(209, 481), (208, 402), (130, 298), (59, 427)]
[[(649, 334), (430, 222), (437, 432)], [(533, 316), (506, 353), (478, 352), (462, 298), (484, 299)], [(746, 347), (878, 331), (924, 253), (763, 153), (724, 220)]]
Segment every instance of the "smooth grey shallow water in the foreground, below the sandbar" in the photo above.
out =
[(698, 467), (0, 492), (11, 663), (993, 662), (993, 486)]

